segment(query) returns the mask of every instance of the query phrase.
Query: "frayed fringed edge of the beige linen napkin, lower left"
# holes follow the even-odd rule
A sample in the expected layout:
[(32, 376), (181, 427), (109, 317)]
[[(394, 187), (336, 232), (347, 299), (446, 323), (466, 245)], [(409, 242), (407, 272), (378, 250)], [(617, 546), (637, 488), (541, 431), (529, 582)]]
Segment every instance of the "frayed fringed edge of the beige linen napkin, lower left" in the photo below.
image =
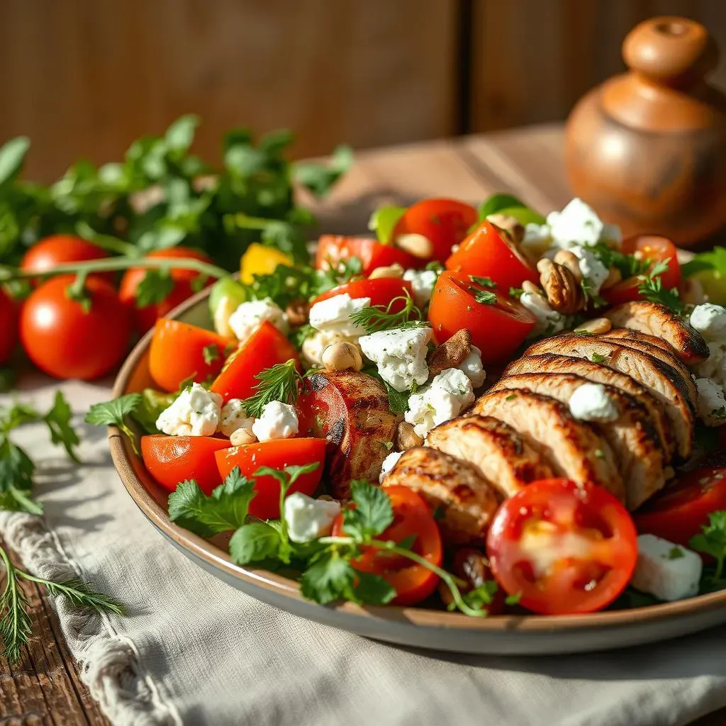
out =
[[(0, 532), (32, 574), (54, 580), (83, 579), (81, 569), (42, 518), (0, 512)], [(174, 706), (144, 674), (134, 643), (118, 635), (105, 614), (71, 605), (65, 597), (51, 599), (68, 648), (83, 667), (83, 682), (114, 726), (181, 725)]]

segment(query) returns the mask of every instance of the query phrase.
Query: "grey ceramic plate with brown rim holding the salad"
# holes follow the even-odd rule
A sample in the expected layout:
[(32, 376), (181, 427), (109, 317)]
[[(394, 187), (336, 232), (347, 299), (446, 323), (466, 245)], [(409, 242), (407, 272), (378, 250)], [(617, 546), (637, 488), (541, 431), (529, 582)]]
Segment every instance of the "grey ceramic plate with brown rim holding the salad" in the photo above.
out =
[[(211, 327), (207, 295), (195, 295), (171, 317)], [(147, 333), (131, 351), (116, 379), (114, 396), (152, 386), (148, 371), (150, 340), (151, 333)], [(117, 428), (111, 428), (109, 440), (123, 486), (148, 520), (192, 562), (258, 600), (359, 635), (460, 653), (540, 655), (652, 643), (726, 622), (726, 591), (627, 611), (583, 616), (494, 616), (481, 620), (425, 608), (317, 605), (301, 597), (293, 580), (232, 563), (223, 540), (208, 542), (172, 523), (166, 509), (166, 490), (144, 470), (128, 439)]]

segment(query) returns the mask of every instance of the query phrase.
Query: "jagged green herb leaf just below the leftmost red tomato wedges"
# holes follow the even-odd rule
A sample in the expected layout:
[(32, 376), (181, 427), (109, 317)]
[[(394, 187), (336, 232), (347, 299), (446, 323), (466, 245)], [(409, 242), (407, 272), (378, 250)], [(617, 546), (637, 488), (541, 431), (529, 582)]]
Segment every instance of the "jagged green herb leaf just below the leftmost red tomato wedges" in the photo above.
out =
[(250, 502), (255, 497), (254, 479), (242, 476), (234, 467), (210, 496), (193, 479), (184, 480), (169, 494), (171, 521), (201, 537), (237, 529), (245, 523)]

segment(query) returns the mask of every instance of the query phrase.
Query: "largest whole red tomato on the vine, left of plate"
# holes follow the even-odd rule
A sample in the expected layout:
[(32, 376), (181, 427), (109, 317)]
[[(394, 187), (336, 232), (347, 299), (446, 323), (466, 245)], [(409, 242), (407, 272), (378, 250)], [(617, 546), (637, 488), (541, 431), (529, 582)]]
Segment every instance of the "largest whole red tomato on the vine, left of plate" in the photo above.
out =
[(30, 293), (20, 311), (20, 340), (30, 360), (48, 375), (91, 380), (121, 363), (131, 319), (113, 286), (99, 277), (86, 280), (86, 312), (68, 297), (75, 280), (75, 275), (58, 275)]

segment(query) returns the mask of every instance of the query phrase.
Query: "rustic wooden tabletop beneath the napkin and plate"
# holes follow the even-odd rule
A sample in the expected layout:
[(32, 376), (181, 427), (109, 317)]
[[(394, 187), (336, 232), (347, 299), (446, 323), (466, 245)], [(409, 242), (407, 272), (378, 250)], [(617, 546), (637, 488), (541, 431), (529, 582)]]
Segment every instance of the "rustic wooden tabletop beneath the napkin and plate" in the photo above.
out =
[[(561, 126), (468, 136), (360, 152), (358, 163), (322, 204), (311, 203), (330, 232), (363, 232), (383, 203), (407, 205), (421, 197), (478, 201), (507, 191), (536, 209), (569, 200), (563, 177)], [(44, 592), (28, 587), (33, 638), (20, 664), (0, 658), (0, 726), (106, 725), (65, 647)], [(694, 726), (726, 724), (726, 709)]]

